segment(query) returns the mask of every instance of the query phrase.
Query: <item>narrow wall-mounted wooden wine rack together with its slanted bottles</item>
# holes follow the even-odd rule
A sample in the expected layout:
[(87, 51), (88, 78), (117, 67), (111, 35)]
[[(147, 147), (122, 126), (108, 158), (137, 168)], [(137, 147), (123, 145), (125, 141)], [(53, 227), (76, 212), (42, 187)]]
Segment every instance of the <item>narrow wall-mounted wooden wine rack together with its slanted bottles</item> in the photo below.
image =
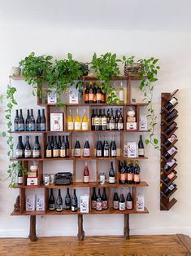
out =
[[(176, 143), (178, 141), (175, 132), (178, 129), (176, 118), (178, 113), (176, 105), (178, 101), (174, 97), (178, 89), (172, 93), (161, 94), (161, 174), (160, 174), (160, 210), (170, 210), (176, 204), (176, 199), (171, 196), (176, 192), (174, 181), (176, 175)], [(167, 104), (173, 101), (173, 104)], [(173, 111), (173, 113), (172, 113)], [(171, 115), (171, 116), (170, 116)], [(170, 117), (170, 118), (169, 118)]]

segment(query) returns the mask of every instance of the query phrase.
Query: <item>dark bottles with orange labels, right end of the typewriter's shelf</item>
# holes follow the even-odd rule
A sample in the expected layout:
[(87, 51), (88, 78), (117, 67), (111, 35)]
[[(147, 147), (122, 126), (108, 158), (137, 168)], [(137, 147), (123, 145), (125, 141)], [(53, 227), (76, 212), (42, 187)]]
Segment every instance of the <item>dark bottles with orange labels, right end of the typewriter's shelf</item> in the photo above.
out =
[(138, 161), (119, 161), (119, 183), (121, 184), (139, 184), (140, 178), (140, 166)]

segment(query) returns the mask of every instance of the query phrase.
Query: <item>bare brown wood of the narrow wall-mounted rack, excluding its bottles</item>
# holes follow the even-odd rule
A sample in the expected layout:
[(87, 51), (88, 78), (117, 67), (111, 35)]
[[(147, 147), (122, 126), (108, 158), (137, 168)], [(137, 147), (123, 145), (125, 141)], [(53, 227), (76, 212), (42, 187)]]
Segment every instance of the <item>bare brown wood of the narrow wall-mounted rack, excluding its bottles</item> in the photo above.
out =
[(176, 166), (178, 165), (177, 163), (175, 163), (173, 166), (171, 166), (171, 168), (167, 171), (165, 171), (163, 169), (164, 165), (167, 163), (167, 161), (170, 161), (172, 158), (174, 158), (176, 156), (177, 151), (171, 155), (171, 157), (169, 157), (168, 159), (166, 157), (164, 157), (165, 153), (167, 152), (167, 150), (169, 150), (171, 147), (173, 147), (178, 139), (176, 139), (173, 143), (171, 143), (171, 145), (169, 147), (166, 147), (164, 145), (165, 141), (171, 137), (171, 135), (173, 135), (176, 130), (178, 129), (178, 127), (176, 127), (174, 130), (171, 131), (171, 133), (169, 135), (165, 134), (165, 130), (167, 130), (167, 127), (171, 125), (171, 123), (173, 121), (176, 120), (176, 118), (178, 117), (178, 115), (176, 115), (176, 117), (174, 117), (170, 122), (165, 121), (165, 118), (167, 117), (167, 115), (171, 112), (172, 109), (174, 109), (176, 107), (176, 105), (178, 104), (178, 102), (176, 102), (176, 104), (174, 104), (174, 106), (170, 109), (167, 110), (165, 108), (167, 102), (174, 96), (176, 95), (176, 92), (178, 90), (175, 90), (173, 93), (162, 93), (161, 94), (161, 179), (160, 179), (160, 210), (170, 210), (171, 207), (173, 205), (176, 204), (176, 199), (173, 198), (170, 200), (170, 197), (174, 194), (174, 192), (176, 192), (177, 188), (175, 188), (171, 193), (169, 193), (168, 195), (165, 195), (163, 193), (163, 190), (165, 188), (167, 188), (171, 183), (173, 183), (176, 178), (177, 175), (175, 175), (175, 177), (173, 179), (171, 179), (168, 183), (165, 183), (163, 181), (163, 178), (165, 176), (167, 176), (168, 174), (171, 173), (172, 170), (175, 170)]

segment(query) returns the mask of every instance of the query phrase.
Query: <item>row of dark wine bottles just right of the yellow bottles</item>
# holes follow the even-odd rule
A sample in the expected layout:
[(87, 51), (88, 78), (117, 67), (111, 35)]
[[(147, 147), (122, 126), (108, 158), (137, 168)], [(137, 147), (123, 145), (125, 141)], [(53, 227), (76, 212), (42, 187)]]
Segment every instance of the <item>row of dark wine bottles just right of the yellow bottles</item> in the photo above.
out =
[(122, 115), (122, 108), (115, 108), (115, 116), (113, 108), (107, 109), (93, 109), (92, 116), (92, 130), (124, 130), (124, 117)]

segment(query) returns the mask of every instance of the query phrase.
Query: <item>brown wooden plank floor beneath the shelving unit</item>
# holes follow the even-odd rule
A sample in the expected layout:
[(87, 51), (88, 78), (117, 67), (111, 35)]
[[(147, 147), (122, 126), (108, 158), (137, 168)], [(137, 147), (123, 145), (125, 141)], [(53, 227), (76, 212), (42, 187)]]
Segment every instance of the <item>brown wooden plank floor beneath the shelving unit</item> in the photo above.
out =
[(85, 236), (85, 241), (76, 237), (46, 237), (37, 242), (28, 239), (0, 239), (1, 256), (61, 256), (61, 255), (191, 255), (189, 236), (131, 236), (124, 241), (122, 236)]

